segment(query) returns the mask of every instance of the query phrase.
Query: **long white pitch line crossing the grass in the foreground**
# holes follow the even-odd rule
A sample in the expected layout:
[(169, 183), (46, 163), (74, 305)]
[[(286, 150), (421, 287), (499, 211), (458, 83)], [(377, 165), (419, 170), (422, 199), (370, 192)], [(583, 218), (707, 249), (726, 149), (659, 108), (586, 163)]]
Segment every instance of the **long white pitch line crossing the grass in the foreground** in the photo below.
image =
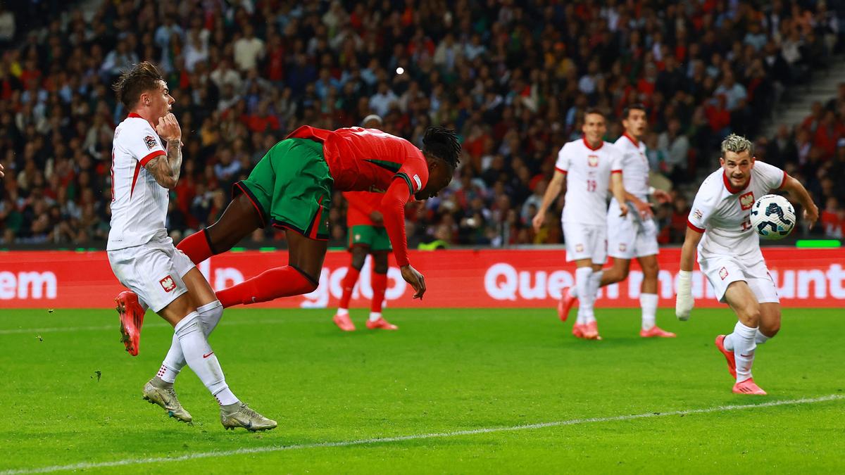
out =
[(491, 427), (482, 429), (456, 430), (454, 432), (435, 432), (431, 434), (412, 434), (401, 435), (398, 437), (379, 437), (375, 439), (361, 439), (361, 440), (341, 440), (337, 442), (319, 442), (314, 444), (297, 444), (297, 445), (270, 445), (268, 447), (249, 447), (237, 450), (215, 450), (211, 452), (194, 452), (193, 454), (185, 454), (183, 456), (173, 457), (151, 457), (151, 458), (136, 458), (124, 459), (117, 461), (101, 461), (101, 462), (83, 462), (74, 463), (73, 465), (54, 465), (52, 467), (41, 468), (25, 468), (18, 470), (7, 470), (0, 472), (0, 475), (18, 475), (23, 473), (49, 473), (61, 472), (63, 470), (88, 470), (90, 468), (104, 468), (104, 467), (124, 467), (127, 465), (140, 465), (146, 463), (172, 462), (172, 461), (188, 461), (201, 458), (223, 457), (223, 456), (237, 456), (244, 454), (262, 454), (266, 452), (279, 452), (282, 450), (304, 450), (304, 449), (319, 449), (324, 447), (348, 447), (351, 445), (368, 445), (368, 444), (386, 444), (390, 442), (402, 442), (405, 440), (422, 440), (422, 439), (441, 439), (444, 437), (457, 437), (460, 435), (476, 435), (476, 434), (490, 434), (493, 432), (511, 432), (516, 430), (531, 430), (543, 429), (547, 427), (560, 427), (567, 425), (577, 425), (583, 423), (608, 423), (615, 421), (630, 421), (633, 419), (646, 418), (662, 418), (666, 416), (687, 416), (690, 414), (706, 414), (709, 412), (728, 412), (741, 411), (743, 409), (755, 409), (758, 407), (774, 407), (774, 406), (791, 406), (796, 404), (814, 404), (816, 402), (839, 401), (845, 399), (845, 396), (831, 394), (830, 396), (811, 397), (803, 399), (789, 399), (786, 401), (770, 401), (761, 404), (738, 404), (731, 406), (717, 406), (707, 407), (704, 409), (687, 409), (684, 411), (669, 411), (669, 412), (644, 412), (642, 414), (630, 414), (627, 416), (613, 416), (609, 418), (584, 418), (584, 419), (570, 419), (568, 421), (556, 421), (550, 423), (532, 423), (525, 425), (515, 425), (510, 427)]

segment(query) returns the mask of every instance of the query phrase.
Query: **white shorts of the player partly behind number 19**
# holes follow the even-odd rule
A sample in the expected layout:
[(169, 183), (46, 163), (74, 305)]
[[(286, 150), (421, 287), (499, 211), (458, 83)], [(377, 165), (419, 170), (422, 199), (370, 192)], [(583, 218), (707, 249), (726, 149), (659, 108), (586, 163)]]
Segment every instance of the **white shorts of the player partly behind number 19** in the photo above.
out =
[[(631, 212), (633, 211), (633, 212)], [(634, 259), (656, 255), (657, 224), (653, 219), (642, 220), (635, 216), (636, 210), (629, 206), (625, 216), (619, 216), (619, 205), (611, 205), (608, 211), (608, 255), (615, 259)]]

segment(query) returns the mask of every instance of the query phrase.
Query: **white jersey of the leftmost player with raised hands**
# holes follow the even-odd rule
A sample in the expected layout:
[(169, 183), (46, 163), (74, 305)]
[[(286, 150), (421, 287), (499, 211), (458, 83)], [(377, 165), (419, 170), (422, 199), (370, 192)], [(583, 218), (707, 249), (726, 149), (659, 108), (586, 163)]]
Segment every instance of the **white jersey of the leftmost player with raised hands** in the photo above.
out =
[(144, 165), (166, 155), (149, 122), (129, 114), (114, 131), (112, 143), (112, 229), (106, 250), (147, 243), (166, 237), (168, 192)]

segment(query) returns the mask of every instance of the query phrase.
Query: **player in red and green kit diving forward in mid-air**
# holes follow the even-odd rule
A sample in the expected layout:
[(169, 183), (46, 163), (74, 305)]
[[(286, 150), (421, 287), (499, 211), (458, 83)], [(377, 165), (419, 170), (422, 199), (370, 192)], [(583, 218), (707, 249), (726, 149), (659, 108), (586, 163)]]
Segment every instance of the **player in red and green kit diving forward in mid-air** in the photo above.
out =
[[(226, 252), (259, 227), (286, 229), (288, 265), (223, 289), (217, 298), (231, 307), (313, 292), (329, 238), (333, 190), (384, 192), (381, 210), (396, 264), (413, 287), (413, 297), (423, 298), (423, 275), (408, 261), (405, 204), (412, 196), (428, 199), (445, 188), (460, 154), (455, 131), (442, 127), (428, 128), (419, 150), (406, 139), (374, 128), (332, 131), (303, 126), (274, 145), (246, 180), (235, 183), (235, 197), (219, 221), (183, 239), (177, 248), (199, 263)], [(129, 313), (143, 314), (137, 303), (127, 305)]]

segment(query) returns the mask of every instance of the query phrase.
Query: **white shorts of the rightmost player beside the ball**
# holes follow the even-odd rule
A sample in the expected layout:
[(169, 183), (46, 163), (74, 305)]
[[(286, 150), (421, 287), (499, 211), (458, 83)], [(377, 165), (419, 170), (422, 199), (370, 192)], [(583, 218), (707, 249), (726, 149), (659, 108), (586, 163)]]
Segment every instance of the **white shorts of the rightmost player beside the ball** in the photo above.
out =
[(766, 261), (759, 256), (754, 259), (743, 259), (739, 256), (713, 256), (702, 259), (699, 254), (698, 265), (721, 303), (725, 303), (725, 291), (728, 286), (736, 281), (745, 281), (751, 292), (754, 292), (758, 303), (781, 302), (777, 297), (775, 282), (771, 280), (766, 268)]

